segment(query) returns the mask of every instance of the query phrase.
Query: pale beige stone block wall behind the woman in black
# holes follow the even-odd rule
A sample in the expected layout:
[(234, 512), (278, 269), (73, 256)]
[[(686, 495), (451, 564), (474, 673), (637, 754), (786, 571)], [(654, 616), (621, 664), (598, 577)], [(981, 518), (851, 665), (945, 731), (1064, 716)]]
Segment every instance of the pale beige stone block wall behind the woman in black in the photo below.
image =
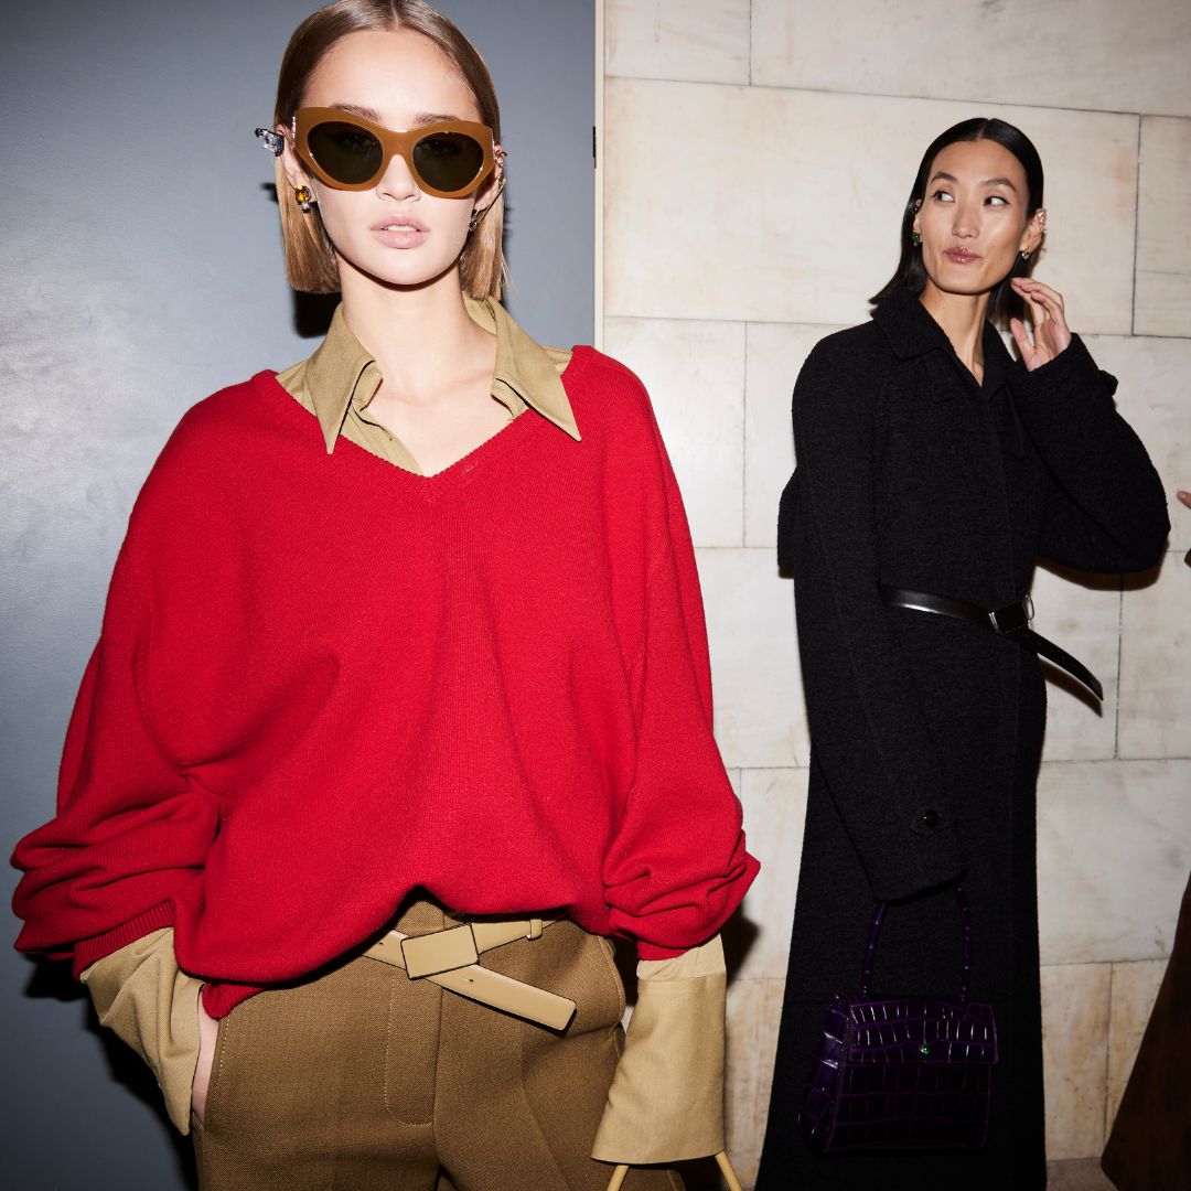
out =
[[(1191, 487), (1186, 0), (606, 0), (605, 347), (653, 394), (698, 547), (717, 734), (765, 869), (730, 992), (731, 1152), (755, 1174), (793, 915), (807, 734), (777, 500), (810, 347), (892, 272), (922, 149), (990, 113), (1047, 168), (1039, 276)], [(1099, 1153), (1191, 866), (1191, 512), (1156, 581), (1043, 572), (1039, 628), (1104, 680), (1050, 686), (1039, 869), (1052, 1159)]]

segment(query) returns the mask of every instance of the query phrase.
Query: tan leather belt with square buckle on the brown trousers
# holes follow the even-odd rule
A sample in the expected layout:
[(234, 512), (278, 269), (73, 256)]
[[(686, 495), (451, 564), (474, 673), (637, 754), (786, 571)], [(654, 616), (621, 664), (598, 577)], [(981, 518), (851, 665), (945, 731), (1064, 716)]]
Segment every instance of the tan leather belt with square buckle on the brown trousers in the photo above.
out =
[(401, 968), (411, 980), (430, 980), (450, 992), (506, 1014), (566, 1029), (575, 1003), (522, 980), (480, 967), (485, 952), (518, 939), (538, 939), (557, 918), (523, 918), (516, 922), (464, 922), (429, 935), (403, 935), (391, 930), (363, 954)]

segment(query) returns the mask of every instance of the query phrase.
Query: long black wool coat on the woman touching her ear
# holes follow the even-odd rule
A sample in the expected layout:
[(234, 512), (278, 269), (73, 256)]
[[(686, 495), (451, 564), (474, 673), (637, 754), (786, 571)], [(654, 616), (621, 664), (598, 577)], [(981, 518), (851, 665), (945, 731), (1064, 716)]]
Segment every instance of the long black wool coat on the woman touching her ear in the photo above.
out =
[[(797, 468), (779, 562), (793, 572), (810, 794), (759, 1191), (1046, 1185), (1035, 784), (1037, 657), (966, 621), (886, 607), (879, 585), (985, 609), (1037, 557), (1137, 570), (1168, 530), (1161, 482), (1077, 337), (1028, 372), (993, 328), (984, 384), (909, 292), (816, 345), (793, 399)], [(1046, 609), (1039, 628), (1046, 632)], [(1062, 642), (1059, 642), (1062, 644)], [(980, 1153), (815, 1158), (797, 1115), (827, 1005), (855, 992), (874, 899), (873, 994), (953, 996), (972, 910), (972, 998), (1000, 1043)]]

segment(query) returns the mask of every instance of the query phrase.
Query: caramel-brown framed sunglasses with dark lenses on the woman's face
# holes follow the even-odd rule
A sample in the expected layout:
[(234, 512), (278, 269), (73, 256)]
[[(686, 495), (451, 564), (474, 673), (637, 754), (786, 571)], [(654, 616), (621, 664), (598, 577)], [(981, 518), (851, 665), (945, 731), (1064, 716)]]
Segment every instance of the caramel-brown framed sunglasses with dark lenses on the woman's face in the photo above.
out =
[(470, 120), (439, 120), (395, 132), (337, 107), (300, 107), (293, 138), (303, 162), (341, 191), (368, 189), (400, 155), (423, 191), (459, 199), (495, 166), (492, 129)]

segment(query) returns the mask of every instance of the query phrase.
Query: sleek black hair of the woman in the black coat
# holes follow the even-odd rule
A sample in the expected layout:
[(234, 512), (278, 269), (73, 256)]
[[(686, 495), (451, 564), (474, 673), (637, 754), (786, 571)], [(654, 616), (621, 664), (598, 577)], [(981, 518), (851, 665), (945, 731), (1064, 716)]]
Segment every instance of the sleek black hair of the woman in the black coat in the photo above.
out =
[[(1021, 129), (991, 116), (978, 116), (974, 119), (962, 120), (953, 125), (935, 137), (922, 155), (913, 188), (910, 191), (910, 198), (906, 200), (905, 211), (902, 214), (902, 260), (898, 261), (897, 270), (880, 293), (868, 299), (874, 306), (879, 305), (894, 289), (909, 289), (910, 293), (921, 294), (925, 288), (927, 270), (922, 263), (922, 249), (911, 238), (913, 217), (918, 205), (927, 197), (927, 179), (935, 158), (943, 149), (958, 141), (996, 141), (997, 144), (1008, 149), (1025, 170), (1027, 218), (1033, 217), (1034, 212), (1042, 206), (1042, 158), (1039, 157), (1037, 149)], [(1036, 261), (1036, 252), (1028, 261), (1023, 261), (1022, 254), (1018, 252), (1009, 275), (990, 294), (989, 318), (998, 326), (1008, 324), (1010, 318), (1021, 318), (1024, 313), (1025, 304), (1014, 293), (1009, 282), (1014, 278), (1028, 278)]]

